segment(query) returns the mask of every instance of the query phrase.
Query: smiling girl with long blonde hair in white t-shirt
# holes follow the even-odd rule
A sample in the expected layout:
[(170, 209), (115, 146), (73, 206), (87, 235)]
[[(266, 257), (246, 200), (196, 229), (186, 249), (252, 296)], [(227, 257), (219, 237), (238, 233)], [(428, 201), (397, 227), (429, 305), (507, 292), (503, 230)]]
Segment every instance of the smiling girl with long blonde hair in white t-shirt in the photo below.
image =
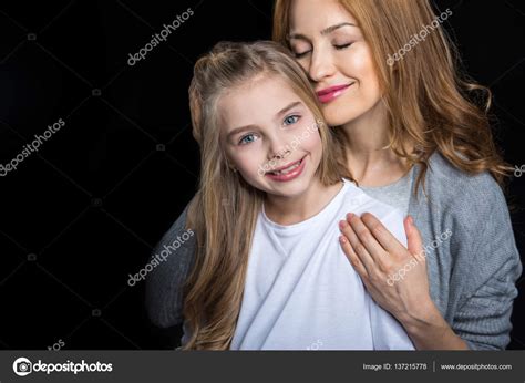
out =
[(189, 93), (202, 173), (184, 349), (413, 349), (338, 242), (348, 210), (400, 241), (403, 217), (349, 180), (294, 59), (271, 42), (219, 43)]

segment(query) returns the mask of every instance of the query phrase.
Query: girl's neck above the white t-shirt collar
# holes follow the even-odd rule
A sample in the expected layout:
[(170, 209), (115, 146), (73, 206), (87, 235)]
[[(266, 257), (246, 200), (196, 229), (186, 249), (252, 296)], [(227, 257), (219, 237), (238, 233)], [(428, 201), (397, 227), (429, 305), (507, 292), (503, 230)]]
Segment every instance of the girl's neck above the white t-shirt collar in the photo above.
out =
[(299, 224), (321, 211), (342, 187), (342, 182), (325, 186), (316, 177), (305, 193), (292, 197), (267, 194), (266, 216), (278, 225)]

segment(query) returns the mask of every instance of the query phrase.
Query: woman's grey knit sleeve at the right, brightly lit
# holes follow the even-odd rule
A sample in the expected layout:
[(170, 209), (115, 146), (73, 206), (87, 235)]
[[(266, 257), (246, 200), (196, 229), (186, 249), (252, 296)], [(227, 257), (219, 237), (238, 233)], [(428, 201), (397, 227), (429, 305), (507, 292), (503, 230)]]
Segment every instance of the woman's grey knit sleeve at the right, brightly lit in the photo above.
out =
[(457, 198), (460, 244), (453, 280), (464, 288), (452, 328), (473, 350), (504, 350), (522, 263), (500, 186), (488, 175), (471, 186)]

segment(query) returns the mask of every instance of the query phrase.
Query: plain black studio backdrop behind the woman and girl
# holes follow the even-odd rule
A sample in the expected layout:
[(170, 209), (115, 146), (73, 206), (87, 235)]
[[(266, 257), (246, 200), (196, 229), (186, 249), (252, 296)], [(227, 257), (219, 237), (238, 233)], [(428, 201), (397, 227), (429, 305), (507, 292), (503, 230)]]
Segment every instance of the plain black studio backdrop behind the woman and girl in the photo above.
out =
[[(453, 12), (444, 27), (467, 73), (494, 92), (494, 134), (517, 166), (507, 199), (523, 259), (525, 6), (435, 4)], [(197, 186), (187, 100), (193, 63), (219, 40), (269, 39), (271, 7), (270, 0), (0, 3), (0, 164), (20, 159), (0, 177), (1, 349), (176, 345), (179, 329), (148, 322), (144, 281), (130, 287), (128, 275), (145, 266)], [(130, 60), (177, 17), (166, 41)], [(34, 139), (32, 152), (25, 145)], [(523, 280), (511, 349), (525, 349)]]

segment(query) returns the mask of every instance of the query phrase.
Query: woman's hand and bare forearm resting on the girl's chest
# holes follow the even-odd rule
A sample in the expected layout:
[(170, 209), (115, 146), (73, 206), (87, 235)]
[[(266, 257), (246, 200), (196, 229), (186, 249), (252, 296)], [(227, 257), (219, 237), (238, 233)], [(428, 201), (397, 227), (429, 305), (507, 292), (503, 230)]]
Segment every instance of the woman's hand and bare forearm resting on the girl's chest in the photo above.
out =
[(406, 330), (416, 349), (467, 349), (432, 302), (421, 235), (404, 219), (408, 248), (371, 214), (349, 214), (340, 242), (368, 292)]

